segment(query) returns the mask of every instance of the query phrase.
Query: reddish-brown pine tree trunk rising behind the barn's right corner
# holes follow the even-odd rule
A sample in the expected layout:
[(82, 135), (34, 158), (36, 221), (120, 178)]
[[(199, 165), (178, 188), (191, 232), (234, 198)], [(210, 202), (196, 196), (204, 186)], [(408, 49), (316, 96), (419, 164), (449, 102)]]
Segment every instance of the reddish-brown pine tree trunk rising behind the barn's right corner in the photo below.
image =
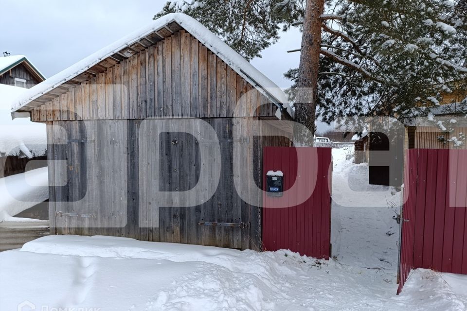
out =
[(313, 146), (315, 128), (318, 70), (321, 45), (321, 15), (324, 0), (306, 0), (302, 50), (295, 99), (295, 121), (305, 125), (311, 135), (295, 127), (295, 146)]

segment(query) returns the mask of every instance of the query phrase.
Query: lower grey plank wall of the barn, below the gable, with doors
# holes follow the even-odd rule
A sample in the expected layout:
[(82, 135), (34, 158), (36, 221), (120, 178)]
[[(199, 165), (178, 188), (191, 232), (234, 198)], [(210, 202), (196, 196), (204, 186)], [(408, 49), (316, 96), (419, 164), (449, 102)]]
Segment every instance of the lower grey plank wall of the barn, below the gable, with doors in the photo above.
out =
[[(163, 132), (156, 145), (155, 133), (168, 119), (54, 121), (49, 124), (51, 182), (51, 226), (58, 234), (125, 236), (144, 241), (182, 242), (233, 248), (261, 249), (261, 211), (244, 202), (234, 187), (234, 174), (252, 172), (261, 187), (261, 150), (265, 145), (288, 145), (287, 133), (279, 130), (266, 138), (244, 139), (248, 153), (234, 172), (234, 118), (205, 119), (216, 131), (221, 149), (221, 176), (214, 196), (193, 207), (158, 207), (159, 191), (192, 189), (201, 169), (213, 161), (201, 159), (199, 143), (192, 135)], [(265, 129), (251, 118), (251, 137)], [(195, 130), (187, 120), (180, 130)], [(175, 130), (175, 129), (174, 129)], [(271, 130), (272, 131), (272, 130)], [(158, 167), (157, 158), (161, 166)], [(157, 171), (159, 170), (159, 171)], [(241, 180), (247, 176), (240, 175)], [(61, 186), (63, 185), (63, 186)], [(243, 183), (249, 193), (252, 185)], [(202, 193), (197, 195), (202, 196)], [(195, 199), (195, 198), (194, 198)], [(179, 200), (175, 196), (174, 203)], [(141, 208), (140, 208), (141, 207)], [(141, 214), (140, 214), (141, 213)], [(126, 217), (121, 217), (125, 215)], [(202, 222), (246, 224), (216, 227)]]

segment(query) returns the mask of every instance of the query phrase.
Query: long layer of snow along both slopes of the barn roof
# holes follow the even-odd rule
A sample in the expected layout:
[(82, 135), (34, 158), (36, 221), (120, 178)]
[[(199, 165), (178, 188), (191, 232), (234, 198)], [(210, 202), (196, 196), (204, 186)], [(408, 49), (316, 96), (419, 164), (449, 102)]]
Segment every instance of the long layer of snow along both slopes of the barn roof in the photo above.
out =
[(271, 100), (276, 104), (281, 104), (290, 116), (293, 116), (293, 111), (288, 105), (287, 97), (279, 86), (269, 80), (258, 69), (254, 68), (247, 60), (240, 54), (235, 52), (219, 37), (213, 34), (209, 29), (204, 27), (193, 17), (183, 13), (171, 13), (152, 21), (148, 26), (121, 38), (120, 40), (108, 45), (107, 47), (91, 54), (71, 67), (55, 74), (53, 77), (46, 81), (33, 86), (21, 98), (19, 98), (12, 106), (13, 111), (18, 111), (28, 103), (34, 101), (41, 95), (51, 91), (65, 82), (71, 80), (82, 72), (90, 69), (92, 66), (98, 64), (105, 58), (121, 51), (122, 49), (132, 45), (144, 36), (147, 36), (171, 22), (177, 22), (187, 32), (197, 38), (208, 49), (214, 52), (220, 59), (227, 63), (234, 69), (240, 76), (249, 81), (259, 91), (266, 92), (266, 95), (272, 97)]

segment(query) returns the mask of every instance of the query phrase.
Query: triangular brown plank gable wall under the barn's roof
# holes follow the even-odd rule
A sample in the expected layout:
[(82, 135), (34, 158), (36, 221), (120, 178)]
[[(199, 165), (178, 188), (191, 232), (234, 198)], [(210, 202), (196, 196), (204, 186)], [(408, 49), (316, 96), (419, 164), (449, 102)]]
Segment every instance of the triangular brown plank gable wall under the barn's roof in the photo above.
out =
[[(253, 112), (267, 98), (183, 30), (67, 87), (33, 109), (32, 120), (272, 117), (277, 109), (269, 103)], [(244, 106), (236, 109), (240, 99)]]

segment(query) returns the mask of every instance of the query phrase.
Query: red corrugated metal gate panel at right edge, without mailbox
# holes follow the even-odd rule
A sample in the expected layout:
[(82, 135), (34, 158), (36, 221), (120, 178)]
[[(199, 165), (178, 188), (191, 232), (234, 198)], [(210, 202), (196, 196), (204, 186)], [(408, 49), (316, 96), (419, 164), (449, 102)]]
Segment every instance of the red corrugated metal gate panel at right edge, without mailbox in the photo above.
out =
[(467, 274), (467, 150), (407, 152), (400, 293), (411, 269)]

